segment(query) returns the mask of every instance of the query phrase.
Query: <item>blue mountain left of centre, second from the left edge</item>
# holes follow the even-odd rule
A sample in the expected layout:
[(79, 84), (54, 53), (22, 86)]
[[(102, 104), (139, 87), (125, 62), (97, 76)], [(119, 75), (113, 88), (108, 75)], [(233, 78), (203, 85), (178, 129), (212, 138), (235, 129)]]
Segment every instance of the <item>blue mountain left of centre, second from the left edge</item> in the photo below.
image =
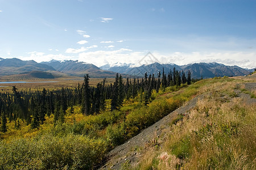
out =
[(113, 71), (101, 70), (99, 67), (91, 63), (79, 62), (77, 60), (66, 60), (63, 62), (52, 60), (42, 63), (52, 66), (57, 71), (75, 76), (84, 76), (85, 74), (89, 74), (89, 76), (93, 78), (105, 78), (114, 77), (116, 74)]

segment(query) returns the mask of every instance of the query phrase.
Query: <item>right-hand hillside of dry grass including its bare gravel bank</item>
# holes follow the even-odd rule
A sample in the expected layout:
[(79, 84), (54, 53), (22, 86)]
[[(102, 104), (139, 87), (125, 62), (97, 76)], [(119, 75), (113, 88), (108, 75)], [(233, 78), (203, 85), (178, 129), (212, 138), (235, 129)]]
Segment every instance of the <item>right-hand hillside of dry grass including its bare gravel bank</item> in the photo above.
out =
[(101, 169), (255, 167), (255, 80), (220, 79), (203, 87), (182, 107), (110, 151)]

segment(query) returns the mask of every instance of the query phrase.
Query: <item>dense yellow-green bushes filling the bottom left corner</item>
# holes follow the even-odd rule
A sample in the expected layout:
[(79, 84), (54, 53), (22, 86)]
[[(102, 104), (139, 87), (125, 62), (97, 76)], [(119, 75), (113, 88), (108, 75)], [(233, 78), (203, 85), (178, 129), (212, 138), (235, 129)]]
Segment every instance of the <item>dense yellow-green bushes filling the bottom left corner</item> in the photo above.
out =
[(0, 169), (92, 169), (107, 151), (104, 140), (73, 134), (0, 144)]

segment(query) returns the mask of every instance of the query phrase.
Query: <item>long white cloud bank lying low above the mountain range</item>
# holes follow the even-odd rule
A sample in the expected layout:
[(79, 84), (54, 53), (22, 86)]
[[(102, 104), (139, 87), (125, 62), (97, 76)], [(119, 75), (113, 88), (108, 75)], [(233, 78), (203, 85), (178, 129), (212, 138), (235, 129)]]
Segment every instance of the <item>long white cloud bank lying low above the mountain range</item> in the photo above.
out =
[[(23, 60), (35, 60), (36, 62), (50, 61), (51, 59), (76, 60), (93, 63), (97, 66), (102, 66), (107, 63), (113, 65), (116, 62), (135, 63), (135, 66), (140, 66), (144, 63), (175, 63), (177, 65), (186, 65), (195, 62), (218, 62), (225, 65), (237, 65), (244, 68), (254, 68), (256, 66), (256, 52), (172, 52), (159, 53), (151, 52), (151, 58), (144, 58), (147, 51), (135, 52), (131, 49), (121, 48), (118, 50), (96, 50), (89, 52), (88, 49), (97, 48), (97, 45), (82, 47), (80, 49), (67, 49), (67, 53), (79, 53), (76, 56), (64, 56), (63, 54), (45, 54), (43, 52), (29, 52), (28, 56), (19, 56)], [(14, 57), (14, 56), (11, 56)]]

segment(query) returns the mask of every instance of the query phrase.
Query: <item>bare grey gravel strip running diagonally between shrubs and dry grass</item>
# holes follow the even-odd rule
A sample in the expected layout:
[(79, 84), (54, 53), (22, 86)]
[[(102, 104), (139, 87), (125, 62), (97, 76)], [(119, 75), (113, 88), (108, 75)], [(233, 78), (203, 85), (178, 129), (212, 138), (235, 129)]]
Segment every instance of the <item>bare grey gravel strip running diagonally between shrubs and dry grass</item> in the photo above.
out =
[[(245, 88), (247, 90), (255, 89), (256, 83), (246, 83)], [(256, 104), (256, 99), (251, 99), (250, 95), (243, 94), (240, 90), (236, 90), (238, 97), (242, 97), (246, 103)], [(170, 124), (172, 120), (177, 116), (177, 114), (188, 114), (189, 110), (196, 106), (196, 103), (199, 99), (202, 99), (204, 95), (196, 96), (192, 100), (185, 103), (182, 107), (176, 109), (174, 112), (171, 112), (162, 120), (156, 122), (154, 125), (144, 129), (137, 136), (131, 138), (129, 141), (120, 145), (114, 150), (110, 151), (108, 154), (108, 161), (100, 169), (120, 169), (121, 165), (128, 161), (131, 165), (136, 165), (139, 158), (142, 156), (140, 148), (143, 148), (147, 145), (154, 143), (156, 140), (159, 143), (164, 141), (166, 135), (165, 131), (170, 129)]]

